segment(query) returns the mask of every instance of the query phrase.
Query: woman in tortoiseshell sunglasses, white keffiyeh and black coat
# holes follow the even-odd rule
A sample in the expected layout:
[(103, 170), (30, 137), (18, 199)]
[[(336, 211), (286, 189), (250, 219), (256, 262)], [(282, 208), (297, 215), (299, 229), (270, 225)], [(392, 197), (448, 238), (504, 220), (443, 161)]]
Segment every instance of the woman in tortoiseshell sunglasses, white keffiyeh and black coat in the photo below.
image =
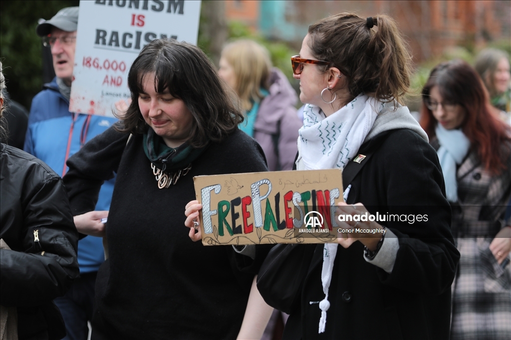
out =
[[(396, 23), (351, 13), (319, 20), (292, 64), (306, 103), (297, 170), (359, 169), (337, 207), (353, 222), (336, 221), (336, 243), (268, 254), (265, 270), (283, 254), (296, 266), (281, 278), (301, 282), (285, 294), (292, 303), (259, 272), (265, 301), (290, 313), (283, 338), (448, 338), (459, 253), (437, 156), (402, 106), (411, 58)], [(379, 221), (364, 221), (366, 212)]]

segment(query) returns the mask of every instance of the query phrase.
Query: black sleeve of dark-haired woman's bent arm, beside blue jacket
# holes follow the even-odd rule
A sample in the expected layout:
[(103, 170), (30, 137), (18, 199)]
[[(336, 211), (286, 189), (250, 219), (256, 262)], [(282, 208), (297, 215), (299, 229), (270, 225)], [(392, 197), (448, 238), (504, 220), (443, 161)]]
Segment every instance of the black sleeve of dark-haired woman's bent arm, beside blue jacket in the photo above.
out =
[(117, 173), (128, 138), (111, 126), (67, 160), (64, 184), (74, 216), (94, 210), (103, 182)]

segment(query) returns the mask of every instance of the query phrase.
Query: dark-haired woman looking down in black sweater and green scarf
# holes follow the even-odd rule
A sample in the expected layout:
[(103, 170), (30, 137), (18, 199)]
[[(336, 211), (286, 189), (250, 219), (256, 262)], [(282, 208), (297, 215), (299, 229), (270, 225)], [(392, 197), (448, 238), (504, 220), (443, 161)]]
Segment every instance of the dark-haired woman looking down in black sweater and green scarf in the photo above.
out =
[(69, 158), (64, 177), (79, 215), (117, 172), (106, 230), (95, 232), (107, 236), (108, 259), (92, 338), (235, 338), (267, 248), (245, 256), (190, 242), (183, 207), (194, 176), (267, 171), (263, 151), (238, 129), (242, 114), (194, 45), (152, 41), (128, 86), (122, 122)]

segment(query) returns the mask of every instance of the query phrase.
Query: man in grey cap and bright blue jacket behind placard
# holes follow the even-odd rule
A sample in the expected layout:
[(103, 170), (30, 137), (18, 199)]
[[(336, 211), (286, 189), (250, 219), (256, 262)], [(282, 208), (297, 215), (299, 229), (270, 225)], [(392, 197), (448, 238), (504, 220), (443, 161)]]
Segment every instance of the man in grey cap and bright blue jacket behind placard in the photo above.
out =
[[(32, 100), (25, 151), (48, 164), (62, 177), (67, 171), (65, 162), (85, 142), (101, 134), (117, 119), (69, 112), (69, 95), (73, 80), (73, 66), (78, 27), (78, 7), (60, 10), (53, 18), (36, 28), (43, 43), (51, 46), (56, 77), (44, 84), (43, 90)], [(97, 211), (107, 211), (114, 179), (101, 188)], [(92, 301), (96, 274), (104, 261), (102, 239), (92, 236), (78, 243), (80, 279), (55, 303), (66, 325), (65, 339), (86, 339), (87, 321), (92, 318)]]

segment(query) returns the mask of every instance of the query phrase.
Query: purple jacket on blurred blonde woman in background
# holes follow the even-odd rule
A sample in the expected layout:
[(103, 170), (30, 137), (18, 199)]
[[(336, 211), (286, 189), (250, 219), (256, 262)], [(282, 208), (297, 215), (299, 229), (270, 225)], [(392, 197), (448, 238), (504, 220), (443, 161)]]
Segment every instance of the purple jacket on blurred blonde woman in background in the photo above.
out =
[(254, 123), (254, 139), (266, 155), (270, 171), (291, 170), (298, 147), (298, 129), (303, 125), (294, 107), (297, 96), (284, 73), (271, 70), (270, 94), (260, 103)]

